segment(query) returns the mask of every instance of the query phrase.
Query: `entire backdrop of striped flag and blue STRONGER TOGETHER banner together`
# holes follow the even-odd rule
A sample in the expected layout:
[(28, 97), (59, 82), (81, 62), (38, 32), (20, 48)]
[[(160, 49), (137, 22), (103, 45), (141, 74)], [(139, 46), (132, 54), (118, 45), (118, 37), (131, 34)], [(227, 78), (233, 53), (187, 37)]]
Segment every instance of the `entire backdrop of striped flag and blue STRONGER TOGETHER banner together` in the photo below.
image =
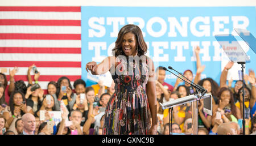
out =
[[(9, 79), (9, 69), (19, 71), (15, 80), (27, 83), (33, 63), (41, 74), (43, 89), (49, 81), (67, 76), (82, 78), (88, 85), (85, 65), (100, 63), (112, 54), (119, 29), (125, 24), (141, 27), (148, 45), (147, 55), (158, 66), (196, 72), (193, 46), (201, 47), (202, 78), (219, 82), (221, 48), (214, 35), (236, 33), (245, 28), (256, 36), (255, 7), (0, 7), (0, 68)], [(241, 41), (241, 38), (236, 35)], [(250, 56), (246, 64), (256, 71), (255, 54), (241, 41)], [(31, 72), (31, 75), (33, 73)], [(92, 79), (95, 77), (92, 77)], [(97, 79), (95, 79), (97, 80)], [(167, 72), (167, 83), (175, 76)]]

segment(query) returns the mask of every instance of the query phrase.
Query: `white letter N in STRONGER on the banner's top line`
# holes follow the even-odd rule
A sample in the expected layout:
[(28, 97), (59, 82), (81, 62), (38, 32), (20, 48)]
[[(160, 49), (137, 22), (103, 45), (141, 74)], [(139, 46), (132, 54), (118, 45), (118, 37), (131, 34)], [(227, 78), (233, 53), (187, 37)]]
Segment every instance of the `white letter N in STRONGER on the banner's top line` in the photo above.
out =
[(175, 28), (180, 32), (180, 35), (183, 37), (188, 36), (188, 17), (181, 17), (180, 22), (182, 25), (179, 24), (175, 17), (169, 17), (168, 22), (170, 23), (170, 32), (168, 33), (168, 37), (176, 37), (177, 33)]

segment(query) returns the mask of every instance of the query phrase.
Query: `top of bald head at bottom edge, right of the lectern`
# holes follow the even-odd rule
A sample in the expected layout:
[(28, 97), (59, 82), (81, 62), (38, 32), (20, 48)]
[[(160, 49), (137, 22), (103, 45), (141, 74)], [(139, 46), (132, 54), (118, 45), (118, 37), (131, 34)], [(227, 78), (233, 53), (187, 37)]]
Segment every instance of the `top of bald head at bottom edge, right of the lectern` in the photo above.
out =
[(237, 130), (230, 123), (222, 123), (217, 128), (218, 135), (237, 135)]

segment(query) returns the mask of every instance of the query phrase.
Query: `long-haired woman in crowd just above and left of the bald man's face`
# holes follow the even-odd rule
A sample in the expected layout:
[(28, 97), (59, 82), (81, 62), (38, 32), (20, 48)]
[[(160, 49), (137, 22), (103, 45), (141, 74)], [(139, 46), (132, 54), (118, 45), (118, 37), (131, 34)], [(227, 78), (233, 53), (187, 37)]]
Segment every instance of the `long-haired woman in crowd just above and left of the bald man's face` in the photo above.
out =
[(6, 122), (6, 128), (17, 134), (15, 130), (15, 122), (17, 119), (22, 118), (23, 114), (28, 113), (26, 98), (23, 92), (14, 91), (10, 96), (10, 109), (7, 111), (9, 113), (9, 119)]

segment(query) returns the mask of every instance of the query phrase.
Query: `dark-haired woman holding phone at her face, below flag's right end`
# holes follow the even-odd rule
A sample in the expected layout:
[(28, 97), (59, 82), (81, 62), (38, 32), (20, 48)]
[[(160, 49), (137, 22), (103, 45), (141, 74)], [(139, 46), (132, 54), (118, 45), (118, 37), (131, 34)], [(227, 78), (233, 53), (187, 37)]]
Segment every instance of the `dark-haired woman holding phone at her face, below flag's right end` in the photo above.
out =
[[(76, 94), (72, 91), (72, 85), (70, 80), (66, 76), (62, 76), (57, 81), (57, 100), (63, 101), (68, 110), (71, 111), (73, 105), (76, 102)], [(59, 102), (60, 105), (60, 102)]]

